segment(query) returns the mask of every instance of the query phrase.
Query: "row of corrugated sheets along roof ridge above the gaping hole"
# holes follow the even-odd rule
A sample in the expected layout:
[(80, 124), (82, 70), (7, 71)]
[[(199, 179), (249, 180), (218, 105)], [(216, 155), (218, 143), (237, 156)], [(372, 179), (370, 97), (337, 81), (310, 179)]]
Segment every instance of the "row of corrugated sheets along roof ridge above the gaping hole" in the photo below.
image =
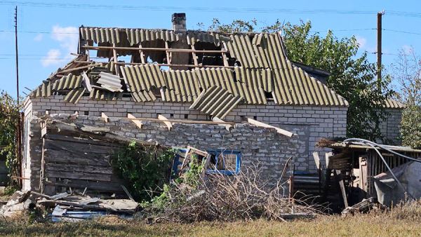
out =
[(178, 41), (182, 34), (175, 34), (172, 30), (166, 29), (130, 29), (130, 28), (101, 28), (101, 27), (80, 27), (80, 36), (84, 40), (92, 40), (95, 43), (116, 43), (127, 40), (133, 44), (143, 41)]

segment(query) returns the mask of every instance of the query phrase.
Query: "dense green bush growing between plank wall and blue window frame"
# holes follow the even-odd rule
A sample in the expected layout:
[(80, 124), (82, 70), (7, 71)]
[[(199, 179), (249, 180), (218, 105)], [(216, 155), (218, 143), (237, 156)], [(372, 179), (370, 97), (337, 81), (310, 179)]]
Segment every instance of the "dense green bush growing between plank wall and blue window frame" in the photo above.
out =
[(173, 149), (141, 147), (131, 142), (113, 154), (111, 163), (119, 176), (128, 182), (133, 198), (149, 201), (169, 182), (174, 156)]

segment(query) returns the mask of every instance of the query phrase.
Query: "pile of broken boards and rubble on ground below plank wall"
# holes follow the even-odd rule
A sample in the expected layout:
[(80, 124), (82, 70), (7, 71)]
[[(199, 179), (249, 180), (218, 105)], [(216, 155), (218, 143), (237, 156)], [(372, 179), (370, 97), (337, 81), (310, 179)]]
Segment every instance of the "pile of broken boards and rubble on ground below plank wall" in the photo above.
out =
[(13, 217), (25, 210), (45, 208), (51, 212), (53, 222), (77, 222), (102, 215), (118, 215), (131, 218), (138, 210), (138, 203), (131, 199), (103, 199), (69, 194), (67, 192), (48, 196), (36, 191), (16, 191), (10, 201), (0, 209), (0, 216)]

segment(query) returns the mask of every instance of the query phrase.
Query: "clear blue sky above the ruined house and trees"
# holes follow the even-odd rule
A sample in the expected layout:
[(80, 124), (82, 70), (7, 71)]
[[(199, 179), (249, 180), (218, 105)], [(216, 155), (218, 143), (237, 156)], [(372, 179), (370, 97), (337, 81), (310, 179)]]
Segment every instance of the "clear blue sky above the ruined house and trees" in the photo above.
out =
[[(69, 5), (70, 4), (70, 5)], [(84, 4), (84, 5), (81, 5)], [(258, 20), (260, 26), (311, 20), (315, 31), (335, 36), (355, 35), (361, 52), (375, 62), (376, 13), (385, 10), (383, 62), (396, 60), (401, 48), (421, 48), (420, 1), (0, 1), (0, 90), (16, 95), (14, 7), (18, 5), (20, 91), (33, 89), (76, 53), (77, 27), (171, 28), (171, 14), (185, 12), (187, 28), (209, 25), (213, 18)], [(405, 12), (405, 13), (398, 13)], [(402, 32), (413, 32), (408, 34)], [(62, 34), (65, 33), (65, 34)], [(361, 53), (360, 52), (360, 53)], [(22, 94), (21, 95), (25, 95)]]

